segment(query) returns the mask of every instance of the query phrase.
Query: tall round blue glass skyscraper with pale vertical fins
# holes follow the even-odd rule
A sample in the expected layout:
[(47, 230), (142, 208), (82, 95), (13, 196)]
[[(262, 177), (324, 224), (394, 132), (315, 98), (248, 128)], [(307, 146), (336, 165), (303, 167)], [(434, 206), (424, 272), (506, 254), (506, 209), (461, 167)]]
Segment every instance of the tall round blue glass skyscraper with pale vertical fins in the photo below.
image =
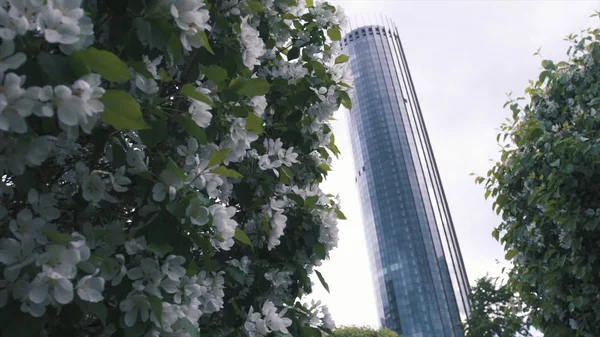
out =
[(393, 25), (343, 41), (356, 183), (381, 324), (404, 337), (459, 337), (469, 284), (406, 56)]

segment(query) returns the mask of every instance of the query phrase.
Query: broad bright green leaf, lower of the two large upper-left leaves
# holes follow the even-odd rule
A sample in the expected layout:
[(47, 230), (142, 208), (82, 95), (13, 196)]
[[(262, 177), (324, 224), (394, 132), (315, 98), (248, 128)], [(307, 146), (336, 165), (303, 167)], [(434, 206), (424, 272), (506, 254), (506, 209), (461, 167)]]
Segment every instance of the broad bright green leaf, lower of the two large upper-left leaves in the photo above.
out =
[(141, 130), (150, 126), (142, 117), (138, 102), (122, 90), (107, 90), (100, 101), (104, 104), (102, 121), (117, 130)]

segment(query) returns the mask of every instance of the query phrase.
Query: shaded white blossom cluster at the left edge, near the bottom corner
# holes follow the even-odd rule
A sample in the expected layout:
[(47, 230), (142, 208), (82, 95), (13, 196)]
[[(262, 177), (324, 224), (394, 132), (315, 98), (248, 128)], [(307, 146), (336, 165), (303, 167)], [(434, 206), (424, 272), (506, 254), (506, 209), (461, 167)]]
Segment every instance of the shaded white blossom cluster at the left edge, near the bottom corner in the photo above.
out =
[[(101, 301), (104, 279), (96, 276), (98, 271), (82, 276), (76, 286), (73, 285), (78, 266), (90, 258), (85, 237), (73, 233), (66, 236), (66, 243), (53, 242), (56, 240), (53, 235), (61, 235), (55, 231), (55, 225), (47, 222), (60, 216), (53, 207), (54, 200), (34, 190), (29, 193), (29, 200), (35, 205), (34, 211), (43, 218), (35, 217), (32, 210), (24, 208), (9, 223), (14, 238), (0, 239), (4, 279), (8, 286), (19, 289), (13, 291), (12, 296), (21, 300), (21, 310), (41, 317), (47, 306), (60, 307), (73, 301), (75, 291), (84, 301)], [(29, 266), (36, 266), (39, 272), (34, 275), (23, 272)], [(7, 297), (8, 293), (3, 296), (2, 305)]]

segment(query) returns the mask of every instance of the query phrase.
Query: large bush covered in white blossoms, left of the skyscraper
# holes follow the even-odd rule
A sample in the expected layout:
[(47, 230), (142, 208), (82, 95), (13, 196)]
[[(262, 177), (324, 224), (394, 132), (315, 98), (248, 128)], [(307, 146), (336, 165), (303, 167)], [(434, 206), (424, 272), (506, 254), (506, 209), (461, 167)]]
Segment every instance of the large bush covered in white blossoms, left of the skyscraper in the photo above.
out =
[(344, 21), (312, 0), (1, 0), (0, 335), (332, 329), (300, 299), (343, 218), (318, 183), (350, 105)]

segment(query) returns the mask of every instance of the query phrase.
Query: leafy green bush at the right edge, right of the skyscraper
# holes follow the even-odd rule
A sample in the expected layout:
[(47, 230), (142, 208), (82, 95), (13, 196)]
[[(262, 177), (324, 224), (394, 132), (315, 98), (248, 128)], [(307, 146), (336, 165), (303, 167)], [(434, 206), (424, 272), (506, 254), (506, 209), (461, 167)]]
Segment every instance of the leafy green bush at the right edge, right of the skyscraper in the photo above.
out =
[(544, 60), (507, 104), (509, 139), (487, 175), (510, 279), (546, 336), (600, 336), (600, 30), (569, 37), (570, 59)]

